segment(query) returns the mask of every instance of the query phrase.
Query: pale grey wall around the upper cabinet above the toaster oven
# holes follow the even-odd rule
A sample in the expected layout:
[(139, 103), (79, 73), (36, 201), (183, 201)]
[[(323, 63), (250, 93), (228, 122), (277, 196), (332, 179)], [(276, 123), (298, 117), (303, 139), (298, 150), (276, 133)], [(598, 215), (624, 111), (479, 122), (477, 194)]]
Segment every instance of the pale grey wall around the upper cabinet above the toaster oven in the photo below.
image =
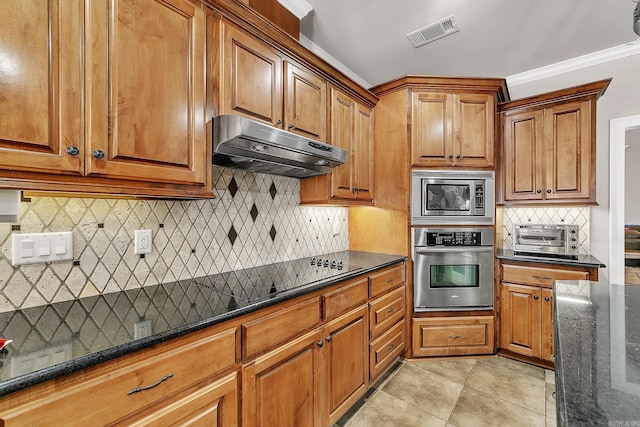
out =
[[(591, 209), (591, 254), (609, 263), (609, 120), (640, 114), (640, 54), (593, 65), (536, 81), (509, 85), (511, 99), (613, 78), (597, 106), (596, 192)], [(637, 186), (637, 184), (636, 184)], [(608, 271), (602, 270), (603, 279)]]

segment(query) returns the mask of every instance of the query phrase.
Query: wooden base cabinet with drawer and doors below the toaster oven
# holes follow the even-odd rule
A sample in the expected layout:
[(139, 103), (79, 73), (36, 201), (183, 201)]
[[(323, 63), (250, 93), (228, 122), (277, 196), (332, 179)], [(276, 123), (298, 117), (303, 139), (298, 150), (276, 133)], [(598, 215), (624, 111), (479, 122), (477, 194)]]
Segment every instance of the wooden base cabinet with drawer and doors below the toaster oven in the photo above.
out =
[(598, 269), (502, 261), (499, 351), (553, 365), (553, 282), (598, 280)]

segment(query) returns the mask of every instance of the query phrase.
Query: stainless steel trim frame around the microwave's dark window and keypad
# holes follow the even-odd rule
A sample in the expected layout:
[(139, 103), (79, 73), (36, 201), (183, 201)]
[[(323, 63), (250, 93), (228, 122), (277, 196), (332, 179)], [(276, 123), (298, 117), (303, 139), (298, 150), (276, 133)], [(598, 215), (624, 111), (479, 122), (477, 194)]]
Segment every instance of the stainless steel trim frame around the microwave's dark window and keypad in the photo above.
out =
[[(483, 185), (483, 210), (474, 205), (476, 186)], [(468, 211), (435, 211), (426, 209), (427, 184), (469, 184), (470, 204)], [(495, 173), (493, 171), (411, 171), (411, 224), (412, 225), (493, 225), (495, 222)]]

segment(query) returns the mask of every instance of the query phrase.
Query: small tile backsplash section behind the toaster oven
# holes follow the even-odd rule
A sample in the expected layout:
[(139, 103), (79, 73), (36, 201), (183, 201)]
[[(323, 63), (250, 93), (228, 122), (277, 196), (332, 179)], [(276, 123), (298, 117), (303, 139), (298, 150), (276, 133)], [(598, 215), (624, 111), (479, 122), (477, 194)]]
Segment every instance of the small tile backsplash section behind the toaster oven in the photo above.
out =
[(579, 227), (580, 253), (589, 254), (588, 207), (578, 208), (504, 208), (502, 212), (502, 248), (513, 249), (513, 224), (576, 224)]

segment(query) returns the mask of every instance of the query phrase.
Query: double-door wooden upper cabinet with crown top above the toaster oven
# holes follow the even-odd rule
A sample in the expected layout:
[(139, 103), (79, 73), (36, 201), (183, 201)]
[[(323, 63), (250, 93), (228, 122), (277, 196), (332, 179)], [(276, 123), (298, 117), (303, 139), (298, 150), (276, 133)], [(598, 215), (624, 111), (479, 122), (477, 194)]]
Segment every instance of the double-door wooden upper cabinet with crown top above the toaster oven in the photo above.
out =
[(596, 100), (609, 81), (500, 106), (499, 202), (596, 203)]

